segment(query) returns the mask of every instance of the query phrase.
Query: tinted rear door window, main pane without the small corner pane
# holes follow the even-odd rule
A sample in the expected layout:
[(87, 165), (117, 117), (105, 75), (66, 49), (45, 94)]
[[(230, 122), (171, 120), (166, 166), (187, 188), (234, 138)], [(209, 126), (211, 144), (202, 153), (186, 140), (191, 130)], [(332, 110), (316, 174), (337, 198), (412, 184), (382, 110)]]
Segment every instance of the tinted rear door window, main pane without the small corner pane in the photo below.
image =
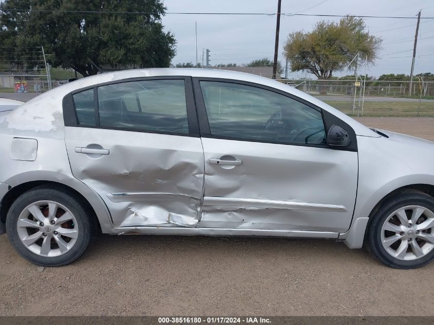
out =
[(131, 81), (98, 87), (100, 125), (188, 133), (183, 80)]

